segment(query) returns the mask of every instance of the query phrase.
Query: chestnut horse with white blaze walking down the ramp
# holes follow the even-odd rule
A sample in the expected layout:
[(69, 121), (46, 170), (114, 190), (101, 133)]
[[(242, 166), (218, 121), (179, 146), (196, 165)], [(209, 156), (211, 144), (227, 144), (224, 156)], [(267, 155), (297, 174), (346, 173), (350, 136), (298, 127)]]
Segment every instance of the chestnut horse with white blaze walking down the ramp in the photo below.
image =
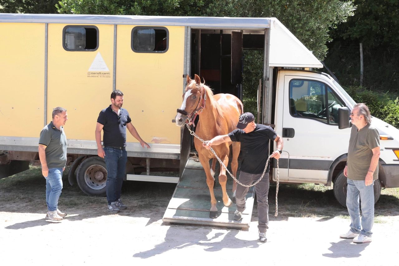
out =
[[(243, 113), (243, 104), (240, 99), (231, 94), (217, 94), (213, 95), (212, 90), (201, 83), (198, 75), (192, 80), (187, 75), (187, 87), (183, 94), (183, 103), (180, 109), (177, 110), (176, 125), (179, 127), (184, 126), (186, 123), (191, 125), (194, 123), (196, 115), (199, 115), (199, 121), (196, 129), (196, 134), (203, 140), (211, 140), (218, 135), (227, 135), (234, 129), (238, 123), (239, 116)], [(195, 125), (194, 125), (195, 126)], [(217, 218), (216, 199), (213, 193), (213, 185), (215, 182), (215, 155), (210, 150), (202, 146), (202, 142), (194, 138), (194, 145), (198, 151), (199, 161), (203, 166), (206, 174), (206, 183), (209, 187), (211, 194), (211, 209), (210, 218)], [(224, 165), (229, 163), (229, 146), (233, 149), (233, 159), (231, 161), (231, 170), (233, 175), (236, 176), (238, 162), (237, 158), (240, 152), (239, 142), (222, 143), (218, 146), (212, 146), (217, 157), (221, 159)], [(213, 159), (212, 167), (209, 167), (209, 160)], [(221, 167), (219, 174), (219, 183), (223, 192), (223, 203), (225, 206), (230, 207), (233, 202), (229, 199), (226, 192), (226, 169)], [(233, 200), (235, 202), (235, 191), (237, 183), (233, 183)]]

